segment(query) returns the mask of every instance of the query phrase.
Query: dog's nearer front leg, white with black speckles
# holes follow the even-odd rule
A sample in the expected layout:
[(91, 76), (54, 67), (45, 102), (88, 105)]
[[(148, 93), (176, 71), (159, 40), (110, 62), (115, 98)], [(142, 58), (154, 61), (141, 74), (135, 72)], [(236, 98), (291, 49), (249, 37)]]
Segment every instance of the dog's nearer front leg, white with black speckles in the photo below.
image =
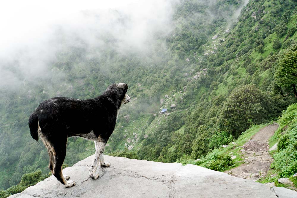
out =
[[(101, 156), (103, 157), (102, 153), (104, 151), (106, 142), (104, 140), (102, 140), (101, 138), (98, 138), (98, 140), (95, 140), (94, 143), (95, 143), (96, 152), (95, 152), (94, 162), (90, 168), (90, 178), (97, 179), (99, 177), (99, 175), (98, 175), (98, 173), (96, 173), (96, 170), (97, 170), (99, 163), (101, 162), (100, 157)], [(104, 162), (104, 159), (103, 159), (103, 162)], [(110, 166), (110, 164), (109, 164), (109, 166)]]

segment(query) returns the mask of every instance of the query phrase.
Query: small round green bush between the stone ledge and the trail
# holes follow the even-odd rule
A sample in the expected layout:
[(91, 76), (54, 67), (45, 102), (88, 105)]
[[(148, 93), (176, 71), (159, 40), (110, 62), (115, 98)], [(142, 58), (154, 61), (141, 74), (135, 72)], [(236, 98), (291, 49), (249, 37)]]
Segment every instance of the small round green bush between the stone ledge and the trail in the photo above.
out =
[(216, 171), (224, 171), (232, 166), (234, 162), (227, 154), (216, 155), (214, 160), (211, 160), (206, 164), (206, 168)]

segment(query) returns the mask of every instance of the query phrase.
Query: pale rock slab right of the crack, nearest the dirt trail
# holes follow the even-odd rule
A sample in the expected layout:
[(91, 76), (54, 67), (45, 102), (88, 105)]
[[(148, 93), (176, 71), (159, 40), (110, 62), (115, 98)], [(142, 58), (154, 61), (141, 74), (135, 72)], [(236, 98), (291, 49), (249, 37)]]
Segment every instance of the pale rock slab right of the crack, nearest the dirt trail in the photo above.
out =
[(262, 183), (190, 164), (174, 174), (174, 181), (174, 197), (276, 197)]

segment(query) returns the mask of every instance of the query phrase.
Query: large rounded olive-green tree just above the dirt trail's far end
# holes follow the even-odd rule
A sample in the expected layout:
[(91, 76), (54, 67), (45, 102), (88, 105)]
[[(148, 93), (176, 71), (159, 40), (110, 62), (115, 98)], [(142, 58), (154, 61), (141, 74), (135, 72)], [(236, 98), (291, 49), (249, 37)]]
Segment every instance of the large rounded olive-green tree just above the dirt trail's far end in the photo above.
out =
[(271, 113), (269, 96), (255, 85), (246, 85), (233, 90), (220, 113), (220, 128), (234, 138), (247, 130), (251, 124), (260, 124)]

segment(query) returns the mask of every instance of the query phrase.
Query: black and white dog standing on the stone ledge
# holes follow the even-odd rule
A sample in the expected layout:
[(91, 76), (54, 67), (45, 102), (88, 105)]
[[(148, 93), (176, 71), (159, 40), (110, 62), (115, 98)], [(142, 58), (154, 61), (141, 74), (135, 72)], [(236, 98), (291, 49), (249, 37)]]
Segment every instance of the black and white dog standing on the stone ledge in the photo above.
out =
[(95, 159), (90, 168), (90, 177), (97, 179), (98, 164), (109, 167), (104, 162), (105, 144), (112, 134), (121, 104), (130, 102), (127, 95), (128, 85), (112, 84), (97, 98), (80, 100), (73, 98), (51, 98), (35, 109), (29, 118), (29, 128), (33, 139), (38, 135), (48, 149), (49, 169), (53, 175), (67, 187), (75, 181), (62, 174), (62, 165), (66, 156), (67, 138), (80, 136), (95, 142)]

